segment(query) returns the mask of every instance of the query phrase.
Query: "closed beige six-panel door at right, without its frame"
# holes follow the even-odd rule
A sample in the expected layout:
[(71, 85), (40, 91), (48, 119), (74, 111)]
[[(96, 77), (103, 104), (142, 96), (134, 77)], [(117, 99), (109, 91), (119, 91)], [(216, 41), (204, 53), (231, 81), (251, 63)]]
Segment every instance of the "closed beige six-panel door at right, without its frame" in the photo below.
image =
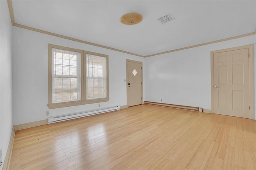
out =
[(249, 118), (249, 51), (214, 53), (214, 113)]

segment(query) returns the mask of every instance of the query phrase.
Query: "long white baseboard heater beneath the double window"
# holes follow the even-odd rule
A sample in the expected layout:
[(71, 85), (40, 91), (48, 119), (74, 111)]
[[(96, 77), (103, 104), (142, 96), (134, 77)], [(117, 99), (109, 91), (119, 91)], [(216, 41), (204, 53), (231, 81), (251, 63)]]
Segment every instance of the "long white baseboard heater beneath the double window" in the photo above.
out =
[(70, 120), (70, 119), (76, 119), (76, 118), (80, 118), (80, 117), (86, 117), (86, 116), (90, 116), (90, 115), (96, 115), (96, 114), (100, 114), (100, 113), (106, 113), (109, 111), (114, 111), (114, 110), (119, 110), (119, 109), (120, 109), (120, 105), (106, 107), (106, 108), (100, 108), (100, 109), (93, 109), (93, 110), (88, 110), (88, 111), (82, 111), (82, 112), (77, 112), (77, 113), (71, 113), (71, 114), (67, 114), (67, 115), (48, 117), (48, 124), (59, 122), (59, 121)]

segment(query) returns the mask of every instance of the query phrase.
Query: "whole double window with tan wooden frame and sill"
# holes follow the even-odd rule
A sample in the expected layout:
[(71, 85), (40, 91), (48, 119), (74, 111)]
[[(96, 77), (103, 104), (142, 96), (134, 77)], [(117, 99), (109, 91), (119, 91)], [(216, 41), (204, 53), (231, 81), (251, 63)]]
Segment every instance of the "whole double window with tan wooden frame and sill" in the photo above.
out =
[(49, 109), (107, 102), (108, 55), (48, 45)]

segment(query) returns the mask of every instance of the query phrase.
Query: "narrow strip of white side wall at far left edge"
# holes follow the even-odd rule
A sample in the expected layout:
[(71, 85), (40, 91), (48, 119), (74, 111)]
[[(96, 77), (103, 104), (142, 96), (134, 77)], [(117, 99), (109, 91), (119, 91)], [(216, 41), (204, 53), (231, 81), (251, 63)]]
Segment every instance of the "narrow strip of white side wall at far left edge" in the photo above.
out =
[[(3, 161), (12, 133), (12, 25), (7, 1), (0, 0), (0, 147)], [(0, 169), (2, 166), (0, 167)]]

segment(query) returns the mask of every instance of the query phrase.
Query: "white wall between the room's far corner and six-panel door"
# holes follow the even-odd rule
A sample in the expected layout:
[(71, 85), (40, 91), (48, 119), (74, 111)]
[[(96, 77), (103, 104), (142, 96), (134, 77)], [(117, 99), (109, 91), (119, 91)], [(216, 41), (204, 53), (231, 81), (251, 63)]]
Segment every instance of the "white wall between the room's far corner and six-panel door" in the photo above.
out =
[(211, 109), (210, 52), (252, 43), (255, 35), (146, 58), (145, 101)]

